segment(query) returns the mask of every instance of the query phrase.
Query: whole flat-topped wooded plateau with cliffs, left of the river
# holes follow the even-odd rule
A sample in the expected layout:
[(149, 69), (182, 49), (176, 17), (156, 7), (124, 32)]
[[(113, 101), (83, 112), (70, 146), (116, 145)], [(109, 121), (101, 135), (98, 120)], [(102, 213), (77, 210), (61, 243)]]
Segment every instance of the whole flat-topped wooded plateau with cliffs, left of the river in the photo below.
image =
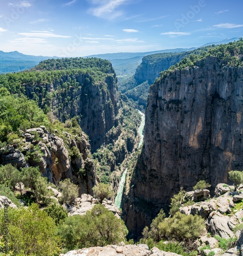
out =
[(92, 153), (98, 150), (100, 179), (113, 182), (116, 190), (118, 164), (138, 144), (140, 115), (120, 99), (111, 62), (98, 58), (45, 60), (29, 71), (0, 76), (1, 87), (36, 101), (51, 122), (58, 119), (69, 125), (74, 118), (89, 136)]

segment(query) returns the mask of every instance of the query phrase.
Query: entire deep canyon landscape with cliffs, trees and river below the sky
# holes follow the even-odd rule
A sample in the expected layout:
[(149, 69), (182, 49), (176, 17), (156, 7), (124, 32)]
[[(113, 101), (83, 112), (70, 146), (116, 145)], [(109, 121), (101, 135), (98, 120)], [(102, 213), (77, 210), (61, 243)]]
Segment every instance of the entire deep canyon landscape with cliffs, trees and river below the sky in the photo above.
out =
[(240, 246), (243, 40), (184, 50), (52, 58), (0, 75), (0, 222), (3, 200), (19, 233), (35, 212), (55, 255)]

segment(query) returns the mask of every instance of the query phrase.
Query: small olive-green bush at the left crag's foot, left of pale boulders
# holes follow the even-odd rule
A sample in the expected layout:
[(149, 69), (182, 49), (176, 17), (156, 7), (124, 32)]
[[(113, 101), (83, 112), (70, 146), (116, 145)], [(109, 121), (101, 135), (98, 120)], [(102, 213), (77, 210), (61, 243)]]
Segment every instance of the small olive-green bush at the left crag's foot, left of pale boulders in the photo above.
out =
[(59, 185), (63, 203), (74, 203), (75, 199), (78, 197), (78, 186), (73, 184), (70, 179), (60, 181)]

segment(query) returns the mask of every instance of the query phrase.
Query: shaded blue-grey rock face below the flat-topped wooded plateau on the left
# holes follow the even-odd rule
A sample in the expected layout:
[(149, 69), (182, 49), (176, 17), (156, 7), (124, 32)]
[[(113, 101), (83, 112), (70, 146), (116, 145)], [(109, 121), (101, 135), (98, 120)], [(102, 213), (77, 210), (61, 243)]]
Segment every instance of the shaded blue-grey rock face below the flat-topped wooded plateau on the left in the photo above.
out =
[(25, 84), (25, 93), (31, 99), (38, 95), (41, 108), (51, 108), (61, 122), (76, 117), (89, 136), (92, 151), (105, 142), (120, 108), (115, 74), (107, 74), (101, 82), (88, 73), (63, 75), (53, 83)]

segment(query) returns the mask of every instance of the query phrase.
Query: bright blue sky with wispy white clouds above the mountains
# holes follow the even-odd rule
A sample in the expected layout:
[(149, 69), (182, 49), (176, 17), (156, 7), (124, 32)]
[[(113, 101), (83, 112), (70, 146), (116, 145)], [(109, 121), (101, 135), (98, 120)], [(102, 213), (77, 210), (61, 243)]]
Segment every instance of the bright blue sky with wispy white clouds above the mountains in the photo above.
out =
[(243, 36), (242, 0), (0, 0), (0, 50), (82, 57)]

